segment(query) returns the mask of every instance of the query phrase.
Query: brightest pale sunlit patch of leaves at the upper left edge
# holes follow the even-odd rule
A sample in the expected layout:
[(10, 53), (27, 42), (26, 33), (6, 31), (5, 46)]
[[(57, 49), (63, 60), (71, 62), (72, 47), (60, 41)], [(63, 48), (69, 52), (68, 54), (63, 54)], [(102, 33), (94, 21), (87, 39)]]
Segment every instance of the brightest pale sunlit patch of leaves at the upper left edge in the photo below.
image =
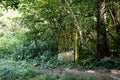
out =
[(0, 13), (2, 14), (0, 16), (0, 33), (13, 34), (16, 28), (16, 22), (13, 19), (20, 18), (21, 14), (17, 10), (3, 8), (0, 8)]

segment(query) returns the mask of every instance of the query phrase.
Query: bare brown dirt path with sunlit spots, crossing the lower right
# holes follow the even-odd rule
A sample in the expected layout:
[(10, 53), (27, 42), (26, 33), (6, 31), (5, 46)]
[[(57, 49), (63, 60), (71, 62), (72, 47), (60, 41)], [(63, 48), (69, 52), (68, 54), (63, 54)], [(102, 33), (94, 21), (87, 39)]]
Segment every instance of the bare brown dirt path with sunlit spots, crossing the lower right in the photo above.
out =
[(96, 75), (102, 77), (104, 80), (120, 80), (120, 70), (108, 70), (104, 68), (99, 68), (96, 70), (78, 70), (78, 69), (46, 69), (47, 73), (51, 75), (55, 74), (64, 74), (66, 72), (72, 73), (75, 75)]

